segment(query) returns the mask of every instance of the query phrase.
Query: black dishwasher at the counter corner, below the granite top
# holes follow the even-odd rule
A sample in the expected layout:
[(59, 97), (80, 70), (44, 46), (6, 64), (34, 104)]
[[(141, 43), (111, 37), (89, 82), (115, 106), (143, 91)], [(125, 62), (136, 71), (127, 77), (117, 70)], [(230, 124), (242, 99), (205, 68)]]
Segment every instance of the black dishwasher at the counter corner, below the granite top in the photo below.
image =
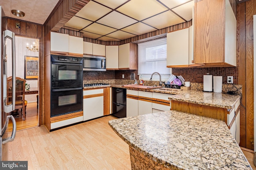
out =
[(126, 89), (112, 88), (112, 115), (126, 117)]

